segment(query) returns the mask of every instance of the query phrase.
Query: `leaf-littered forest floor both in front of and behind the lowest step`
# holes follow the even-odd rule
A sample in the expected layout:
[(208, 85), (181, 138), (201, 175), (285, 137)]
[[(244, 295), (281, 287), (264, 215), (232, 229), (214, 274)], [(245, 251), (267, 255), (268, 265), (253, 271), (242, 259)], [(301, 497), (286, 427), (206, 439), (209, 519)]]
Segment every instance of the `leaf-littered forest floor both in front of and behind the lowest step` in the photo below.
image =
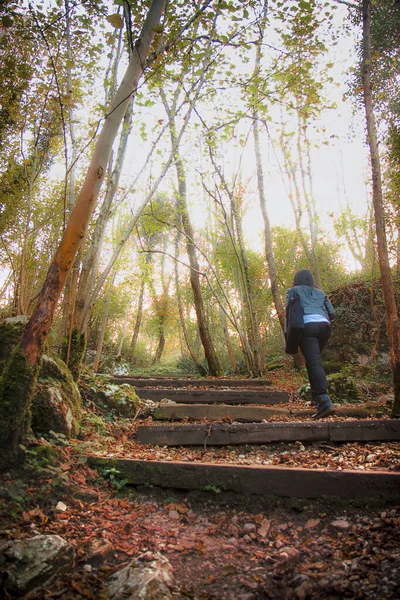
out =
[(32, 600), (101, 599), (108, 577), (147, 551), (170, 561), (177, 600), (399, 598), (393, 502), (129, 487), (85, 459), (397, 471), (399, 443), (151, 447), (136, 442), (138, 423), (87, 409), (79, 439), (39, 440), (23, 471), (0, 476), (0, 540), (58, 534), (76, 547), (74, 571)]

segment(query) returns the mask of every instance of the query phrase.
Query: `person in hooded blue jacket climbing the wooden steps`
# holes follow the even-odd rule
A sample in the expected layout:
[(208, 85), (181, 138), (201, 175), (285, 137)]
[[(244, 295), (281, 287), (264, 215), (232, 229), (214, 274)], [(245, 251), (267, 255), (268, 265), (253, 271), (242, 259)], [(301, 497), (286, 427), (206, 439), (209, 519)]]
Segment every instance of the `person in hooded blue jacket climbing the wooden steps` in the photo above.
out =
[(328, 297), (315, 287), (311, 271), (297, 271), (293, 287), (286, 292), (286, 306), (294, 295), (300, 296), (303, 309), (304, 329), (299, 339), (300, 350), (306, 361), (313, 403), (317, 405), (314, 419), (332, 415), (335, 411), (328, 395), (326, 375), (322, 366), (321, 352), (331, 335), (330, 319), (334, 312)]

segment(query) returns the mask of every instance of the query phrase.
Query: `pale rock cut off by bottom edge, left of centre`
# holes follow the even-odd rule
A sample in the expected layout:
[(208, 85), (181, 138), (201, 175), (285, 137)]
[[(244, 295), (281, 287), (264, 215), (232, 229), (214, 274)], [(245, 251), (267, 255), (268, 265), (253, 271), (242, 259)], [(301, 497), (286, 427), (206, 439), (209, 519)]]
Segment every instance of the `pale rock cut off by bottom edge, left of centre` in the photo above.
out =
[[(147, 553), (148, 554), (148, 553)], [(172, 600), (172, 567), (160, 553), (146, 554), (133, 561), (109, 578), (107, 600)]]

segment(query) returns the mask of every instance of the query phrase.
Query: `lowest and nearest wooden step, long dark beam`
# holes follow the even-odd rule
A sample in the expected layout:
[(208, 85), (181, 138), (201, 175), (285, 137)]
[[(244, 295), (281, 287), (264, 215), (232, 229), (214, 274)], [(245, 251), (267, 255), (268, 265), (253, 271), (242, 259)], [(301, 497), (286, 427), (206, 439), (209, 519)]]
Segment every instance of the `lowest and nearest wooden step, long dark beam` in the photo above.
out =
[(400, 500), (400, 473), (385, 471), (325, 471), (93, 456), (88, 456), (87, 461), (92, 468), (114, 467), (132, 485), (292, 498)]

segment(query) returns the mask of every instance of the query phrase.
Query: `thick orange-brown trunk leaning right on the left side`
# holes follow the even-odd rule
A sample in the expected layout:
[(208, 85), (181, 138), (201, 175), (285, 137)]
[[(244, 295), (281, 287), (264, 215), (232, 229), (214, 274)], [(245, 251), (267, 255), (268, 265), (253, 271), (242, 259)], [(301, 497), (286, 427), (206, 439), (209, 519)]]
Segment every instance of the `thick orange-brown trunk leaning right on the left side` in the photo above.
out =
[[(35, 389), (43, 345), (54, 313), (104, 179), (115, 136), (132, 94), (143, 72), (154, 35), (165, 8), (165, 0), (153, 0), (129, 61), (124, 78), (105, 117), (75, 208), (39, 295), (38, 303), (22, 335), (21, 345), (11, 355), (0, 384), (0, 446), (18, 449), (26, 434), (29, 409)], [(18, 380), (15, 373), (18, 372)], [(20, 374), (21, 373), (21, 374)], [(10, 410), (10, 401), (13, 409)]]

